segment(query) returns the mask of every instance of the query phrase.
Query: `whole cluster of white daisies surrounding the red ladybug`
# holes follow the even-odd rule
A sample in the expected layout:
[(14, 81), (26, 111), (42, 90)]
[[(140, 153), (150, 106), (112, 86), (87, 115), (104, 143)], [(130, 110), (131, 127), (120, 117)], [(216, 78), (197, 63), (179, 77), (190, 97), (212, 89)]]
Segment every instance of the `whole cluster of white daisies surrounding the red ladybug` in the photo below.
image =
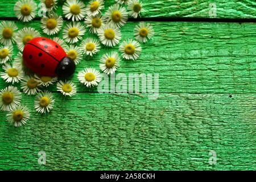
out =
[[(63, 17), (57, 15), (58, 0), (41, 0), (45, 5), (46, 16), (41, 19), (41, 28), (44, 34), (49, 36), (58, 35), (63, 27)], [(105, 15), (104, 0), (91, 0), (88, 5), (81, 0), (66, 0), (62, 7), (65, 18), (70, 20), (62, 32), (63, 39), (52, 38), (65, 49), (68, 57), (79, 64), (83, 56), (94, 56), (100, 49), (101, 44), (105, 47), (114, 47), (119, 44), (119, 52), (105, 53), (100, 59), (100, 70), (108, 75), (113, 74), (119, 67), (121, 57), (126, 60), (137, 60), (141, 55), (141, 44), (146, 43), (154, 35), (150, 23), (141, 22), (134, 29), (134, 39), (124, 40), (120, 28), (123, 27), (129, 15), (138, 18), (143, 12), (143, 4), (139, 0), (115, 0)], [(126, 7), (127, 6), (127, 7)], [(34, 0), (19, 0), (14, 6), (16, 17), (22, 22), (30, 22), (36, 16), (37, 5)], [(90, 34), (96, 38), (82, 40), (89, 29)], [(13, 84), (19, 83), (21, 89), (27, 95), (36, 95), (34, 107), (38, 113), (48, 113), (55, 102), (53, 94), (43, 89), (57, 82), (57, 90), (64, 96), (73, 96), (76, 93), (76, 85), (72, 81), (59, 80), (56, 77), (39, 76), (32, 73), (23, 64), (22, 51), (27, 42), (39, 37), (40, 32), (32, 27), (24, 27), (18, 30), (14, 22), (3, 21), (0, 23), (0, 64), (3, 72), (0, 77), (7, 83), (12, 84), (0, 90), (0, 110), (8, 111), (7, 121), (19, 127), (24, 125), (30, 118), (27, 106), (21, 105), (22, 93)], [(94, 36), (95, 37), (95, 36)], [(79, 46), (77, 46), (77, 43)], [(19, 49), (19, 53), (13, 57), (13, 44)], [(121, 56), (119, 56), (121, 53)], [(10, 63), (12, 62), (12, 64)], [(101, 81), (101, 74), (95, 68), (85, 68), (77, 76), (78, 80), (86, 87), (97, 86)]]

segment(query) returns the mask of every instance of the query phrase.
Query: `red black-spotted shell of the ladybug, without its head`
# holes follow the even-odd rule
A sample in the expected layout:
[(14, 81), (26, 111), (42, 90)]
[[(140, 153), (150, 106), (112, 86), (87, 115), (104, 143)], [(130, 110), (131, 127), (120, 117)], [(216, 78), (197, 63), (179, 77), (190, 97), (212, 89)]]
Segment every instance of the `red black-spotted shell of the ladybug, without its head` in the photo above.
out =
[(64, 57), (64, 49), (47, 38), (34, 38), (23, 50), (24, 64), (41, 76), (56, 76), (55, 69)]

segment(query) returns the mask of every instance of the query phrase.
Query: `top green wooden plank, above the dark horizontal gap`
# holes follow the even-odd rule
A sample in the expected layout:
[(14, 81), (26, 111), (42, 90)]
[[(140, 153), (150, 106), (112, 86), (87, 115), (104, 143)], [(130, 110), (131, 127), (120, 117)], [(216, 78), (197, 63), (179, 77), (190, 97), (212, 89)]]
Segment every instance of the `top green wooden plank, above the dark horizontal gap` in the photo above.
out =
[[(15, 0), (1, 0), (0, 17), (15, 17), (13, 7)], [(39, 0), (35, 0), (39, 4)], [(105, 10), (113, 5), (114, 0), (105, 1)], [(214, 3), (214, 5), (210, 5)], [(193, 17), (193, 18), (256, 18), (256, 3), (253, 0), (243, 1), (204, 1), (204, 0), (144, 0), (142, 17)], [(62, 14), (63, 1), (59, 1), (57, 13)], [(215, 6), (216, 5), (216, 6)], [(213, 7), (216, 7), (216, 14)]]

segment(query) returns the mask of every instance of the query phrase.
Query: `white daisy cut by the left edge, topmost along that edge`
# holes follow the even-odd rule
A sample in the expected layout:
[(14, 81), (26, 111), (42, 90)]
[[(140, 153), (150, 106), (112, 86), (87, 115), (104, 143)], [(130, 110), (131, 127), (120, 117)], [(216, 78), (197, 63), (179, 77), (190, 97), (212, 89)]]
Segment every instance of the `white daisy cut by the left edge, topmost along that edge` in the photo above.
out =
[(14, 22), (3, 21), (0, 23), (0, 43), (10, 45), (14, 43), (14, 34), (18, 27)]

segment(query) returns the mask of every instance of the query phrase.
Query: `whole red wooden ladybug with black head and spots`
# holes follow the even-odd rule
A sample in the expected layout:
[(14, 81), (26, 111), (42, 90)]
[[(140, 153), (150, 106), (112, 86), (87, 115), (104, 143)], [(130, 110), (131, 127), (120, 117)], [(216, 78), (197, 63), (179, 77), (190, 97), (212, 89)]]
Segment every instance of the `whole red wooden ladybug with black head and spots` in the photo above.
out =
[(51, 39), (34, 38), (23, 50), (23, 63), (40, 76), (67, 78), (76, 69), (64, 49)]

